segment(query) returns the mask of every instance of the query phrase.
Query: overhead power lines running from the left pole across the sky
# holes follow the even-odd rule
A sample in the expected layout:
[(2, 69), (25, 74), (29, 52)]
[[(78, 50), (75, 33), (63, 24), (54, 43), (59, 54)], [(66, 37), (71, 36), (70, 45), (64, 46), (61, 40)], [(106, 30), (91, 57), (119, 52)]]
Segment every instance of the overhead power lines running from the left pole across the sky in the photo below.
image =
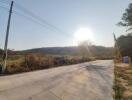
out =
[[(2, 2), (4, 4), (7, 4), (7, 2), (3, 2), (3, 1), (0, 1), (0, 2)], [(3, 6), (0, 6), (0, 7), (8, 10), (8, 8), (6, 8), (6, 7), (3, 7)], [(16, 15), (22, 16), (22, 17), (24, 17), (24, 18), (26, 18), (26, 19), (28, 19), (28, 20), (36, 23), (36, 24), (39, 24), (42, 27), (47, 28), (47, 29), (49, 29), (51, 31), (59, 32), (59, 33), (65, 33), (63, 35), (66, 35), (66, 36), (70, 35), (67, 32), (62, 31), (58, 27), (48, 23), (46, 20), (42, 19), (40, 16), (38, 16), (38, 15), (34, 14), (33, 12), (27, 10), (26, 8), (22, 7), (20, 4), (15, 3), (14, 7), (19, 9), (20, 11), (22, 11), (23, 13), (26, 14), (26, 15), (25, 14), (21, 14), (20, 12), (18, 12), (16, 10), (13, 10), (13, 13), (15, 13)]]

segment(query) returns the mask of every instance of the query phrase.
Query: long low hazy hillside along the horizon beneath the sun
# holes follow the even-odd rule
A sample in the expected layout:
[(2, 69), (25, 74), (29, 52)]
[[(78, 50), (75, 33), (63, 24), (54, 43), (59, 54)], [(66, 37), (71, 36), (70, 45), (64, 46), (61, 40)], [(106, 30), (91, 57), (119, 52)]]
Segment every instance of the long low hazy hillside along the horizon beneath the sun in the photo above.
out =
[[(84, 49), (84, 48), (83, 48)], [(92, 55), (96, 58), (113, 58), (113, 47), (103, 47), (103, 46), (90, 46), (88, 50), (82, 50), (81, 47), (44, 47), (44, 48), (33, 48), (21, 51), (8, 50), (8, 55), (23, 55), (27, 53), (41, 53), (48, 55), (60, 55), (60, 56), (83, 56), (82, 52), (85, 51), (84, 55)], [(0, 49), (0, 55), (3, 55), (3, 51)]]

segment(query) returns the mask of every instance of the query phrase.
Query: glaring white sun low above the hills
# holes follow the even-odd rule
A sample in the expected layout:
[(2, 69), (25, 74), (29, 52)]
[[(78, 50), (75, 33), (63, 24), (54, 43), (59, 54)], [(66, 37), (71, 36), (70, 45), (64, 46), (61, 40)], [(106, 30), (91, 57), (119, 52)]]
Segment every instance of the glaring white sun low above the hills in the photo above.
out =
[(93, 32), (90, 28), (79, 28), (75, 32), (74, 38), (76, 42), (93, 41)]

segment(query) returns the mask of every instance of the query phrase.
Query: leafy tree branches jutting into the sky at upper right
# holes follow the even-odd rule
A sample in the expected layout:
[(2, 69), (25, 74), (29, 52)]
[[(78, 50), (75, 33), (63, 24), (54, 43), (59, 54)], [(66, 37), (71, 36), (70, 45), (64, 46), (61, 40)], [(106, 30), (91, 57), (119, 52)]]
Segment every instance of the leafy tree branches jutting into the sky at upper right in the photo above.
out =
[(128, 27), (128, 30), (132, 29), (132, 3), (129, 4), (125, 13), (123, 13), (122, 21), (118, 25)]

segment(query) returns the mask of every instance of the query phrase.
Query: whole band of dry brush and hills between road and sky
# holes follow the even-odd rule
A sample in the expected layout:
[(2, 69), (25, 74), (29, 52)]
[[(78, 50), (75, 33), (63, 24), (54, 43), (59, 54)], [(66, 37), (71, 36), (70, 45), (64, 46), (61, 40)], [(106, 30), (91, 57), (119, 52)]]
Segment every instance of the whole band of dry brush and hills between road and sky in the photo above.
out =
[[(2, 54), (3, 51), (0, 50), (0, 64), (3, 64)], [(78, 64), (96, 59), (112, 58), (113, 48), (89, 46), (87, 42), (81, 43), (78, 47), (37, 48), (24, 51), (8, 50), (5, 74), (29, 72)]]

